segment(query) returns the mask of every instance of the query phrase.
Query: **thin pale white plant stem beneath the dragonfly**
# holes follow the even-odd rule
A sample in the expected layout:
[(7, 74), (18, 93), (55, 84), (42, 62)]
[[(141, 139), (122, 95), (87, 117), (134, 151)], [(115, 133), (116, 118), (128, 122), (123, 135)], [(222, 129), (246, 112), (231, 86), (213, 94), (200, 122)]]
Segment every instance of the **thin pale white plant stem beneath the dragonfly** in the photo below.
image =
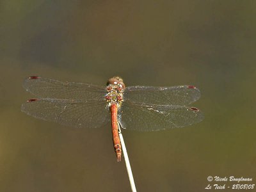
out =
[(129, 161), (129, 157), (128, 157), (128, 154), (127, 154), (127, 150), (126, 150), (125, 143), (124, 143), (124, 138), (123, 138), (119, 123), (118, 123), (118, 134), (119, 134), (121, 145), (122, 145), (122, 151), (123, 151), (123, 154), (124, 154), (124, 160), (125, 160), (125, 165), (126, 165), (128, 177), (129, 177), (129, 180), (130, 180), (131, 189), (132, 189), (132, 192), (136, 192), (136, 186), (135, 186), (133, 175), (132, 175), (131, 164), (130, 164), (130, 161)]

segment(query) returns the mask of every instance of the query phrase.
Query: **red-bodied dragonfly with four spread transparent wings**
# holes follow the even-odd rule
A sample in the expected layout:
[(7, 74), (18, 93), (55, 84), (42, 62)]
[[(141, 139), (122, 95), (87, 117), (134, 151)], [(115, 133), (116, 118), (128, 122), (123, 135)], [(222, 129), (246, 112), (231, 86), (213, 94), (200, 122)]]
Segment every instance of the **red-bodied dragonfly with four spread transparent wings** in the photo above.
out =
[(31, 76), (23, 86), (36, 96), (21, 106), (27, 115), (71, 127), (97, 128), (111, 122), (118, 162), (122, 155), (119, 125), (127, 130), (161, 131), (204, 118), (200, 109), (187, 106), (200, 98), (192, 85), (126, 87), (121, 77), (112, 77), (107, 86), (99, 86)]

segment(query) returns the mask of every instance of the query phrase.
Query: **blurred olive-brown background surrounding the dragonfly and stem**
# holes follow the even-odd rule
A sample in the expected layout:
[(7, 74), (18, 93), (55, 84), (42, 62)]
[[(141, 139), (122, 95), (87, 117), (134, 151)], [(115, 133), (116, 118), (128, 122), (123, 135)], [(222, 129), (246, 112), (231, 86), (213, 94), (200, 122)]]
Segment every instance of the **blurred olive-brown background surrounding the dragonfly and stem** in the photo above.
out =
[[(0, 2), (0, 191), (130, 191), (111, 127), (74, 129), (20, 111), (38, 75), (127, 86), (193, 84), (205, 119), (123, 131), (138, 191), (256, 184), (256, 1)], [(217, 182), (232, 187), (236, 182)], [(241, 182), (240, 182), (241, 184)], [(228, 189), (225, 189), (228, 191)]]

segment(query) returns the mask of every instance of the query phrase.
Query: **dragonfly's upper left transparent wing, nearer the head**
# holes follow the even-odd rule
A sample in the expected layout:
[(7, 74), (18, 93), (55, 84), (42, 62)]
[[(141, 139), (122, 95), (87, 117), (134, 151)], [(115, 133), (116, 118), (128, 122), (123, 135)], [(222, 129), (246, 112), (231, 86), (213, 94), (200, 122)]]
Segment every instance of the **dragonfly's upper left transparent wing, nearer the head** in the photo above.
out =
[(104, 100), (104, 86), (61, 81), (31, 76), (25, 79), (24, 88), (39, 98)]

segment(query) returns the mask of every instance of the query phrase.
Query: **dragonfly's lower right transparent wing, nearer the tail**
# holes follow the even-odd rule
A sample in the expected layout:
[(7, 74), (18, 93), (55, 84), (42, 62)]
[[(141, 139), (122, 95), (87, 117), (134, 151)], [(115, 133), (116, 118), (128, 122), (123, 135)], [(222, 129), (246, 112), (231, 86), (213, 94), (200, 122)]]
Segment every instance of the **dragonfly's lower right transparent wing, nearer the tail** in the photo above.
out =
[(204, 118), (203, 113), (193, 107), (125, 102), (118, 111), (118, 118), (124, 129), (159, 131), (196, 124)]

